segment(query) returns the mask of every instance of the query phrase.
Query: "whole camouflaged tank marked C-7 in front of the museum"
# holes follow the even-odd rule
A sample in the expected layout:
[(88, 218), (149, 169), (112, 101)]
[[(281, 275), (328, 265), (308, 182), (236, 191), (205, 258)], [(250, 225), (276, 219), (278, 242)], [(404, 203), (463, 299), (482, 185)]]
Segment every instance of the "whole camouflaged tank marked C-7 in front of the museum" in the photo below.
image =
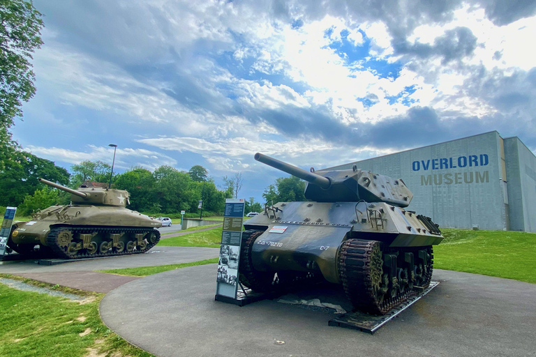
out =
[(438, 225), (407, 211), (401, 179), (357, 169), (307, 172), (261, 153), (255, 160), (307, 181), (310, 202), (279, 202), (244, 222), (240, 282), (254, 291), (323, 277), (357, 310), (385, 314), (429, 286)]

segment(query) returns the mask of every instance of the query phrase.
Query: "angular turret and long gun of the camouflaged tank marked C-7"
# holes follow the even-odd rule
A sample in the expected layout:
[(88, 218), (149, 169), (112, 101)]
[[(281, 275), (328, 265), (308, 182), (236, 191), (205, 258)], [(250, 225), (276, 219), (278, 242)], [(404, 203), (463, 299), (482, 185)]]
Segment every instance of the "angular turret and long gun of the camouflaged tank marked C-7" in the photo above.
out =
[(413, 194), (402, 179), (373, 174), (356, 165), (346, 170), (319, 170), (311, 172), (255, 153), (255, 160), (307, 181), (305, 197), (316, 202), (385, 202), (407, 207)]

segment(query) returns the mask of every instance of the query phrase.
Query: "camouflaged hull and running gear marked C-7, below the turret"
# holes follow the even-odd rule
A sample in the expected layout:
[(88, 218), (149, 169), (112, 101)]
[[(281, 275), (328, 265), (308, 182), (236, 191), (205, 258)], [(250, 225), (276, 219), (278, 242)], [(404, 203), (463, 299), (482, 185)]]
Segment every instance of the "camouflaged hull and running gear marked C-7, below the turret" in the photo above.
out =
[[(343, 284), (357, 308), (373, 313), (387, 312), (429, 284), (431, 246), (443, 239), (429, 218), (385, 202), (278, 203), (244, 226), (255, 232), (254, 239), (246, 235), (242, 252), (242, 260), (248, 261), (241, 261), (241, 266), (250, 269), (248, 278), (243, 277), (246, 285), (274, 273), (291, 280), (320, 276)], [(366, 299), (356, 298), (362, 294), (355, 287), (370, 287), (348, 275), (364, 277), (371, 270), (371, 257), (381, 261), (376, 266), (380, 281), (374, 283), (375, 289), (389, 296), (359, 305)], [(368, 270), (355, 271), (355, 266)], [(262, 289), (262, 284), (256, 287)]]

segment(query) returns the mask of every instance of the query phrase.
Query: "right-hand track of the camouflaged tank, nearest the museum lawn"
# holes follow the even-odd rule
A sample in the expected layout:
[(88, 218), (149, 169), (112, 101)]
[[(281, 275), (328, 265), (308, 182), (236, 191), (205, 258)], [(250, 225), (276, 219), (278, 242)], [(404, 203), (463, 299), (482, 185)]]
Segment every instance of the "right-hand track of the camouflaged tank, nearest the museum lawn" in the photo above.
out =
[[(417, 248), (388, 248), (382, 253), (394, 252), (413, 252), (414, 255), (418, 250), (426, 249), (429, 255), (427, 259), (426, 274), (423, 274), (419, 285), (406, 287), (402, 292), (397, 291), (396, 296), (387, 296), (387, 291), (378, 296), (378, 273), (375, 273), (374, 252), (379, 248), (378, 241), (363, 241), (360, 239), (348, 239), (341, 245), (339, 251), (339, 276), (343, 283), (345, 291), (350, 303), (357, 309), (371, 314), (386, 314), (389, 310), (403, 303), (410, 296), (417, 294), (421, 289), (429, 286), (433, 273), (433, 255), (431, 247)], [(383, 275), (383, 272), (380, 273)], [(380, 278), (381, 280), (381, 278)], [(380, 281), (381, 282), (381, 281)]]

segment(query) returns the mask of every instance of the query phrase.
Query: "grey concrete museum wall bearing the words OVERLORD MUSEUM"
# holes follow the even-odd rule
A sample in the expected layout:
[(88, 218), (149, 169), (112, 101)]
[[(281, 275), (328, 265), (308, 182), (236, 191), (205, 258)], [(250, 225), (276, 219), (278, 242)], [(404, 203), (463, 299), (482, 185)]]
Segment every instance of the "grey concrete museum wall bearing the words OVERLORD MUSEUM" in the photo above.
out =
[(440, 227), (506, 229), (499, 142), (487, 132), (355, 163), (403, 179), (414, 195), (409, 208)]

